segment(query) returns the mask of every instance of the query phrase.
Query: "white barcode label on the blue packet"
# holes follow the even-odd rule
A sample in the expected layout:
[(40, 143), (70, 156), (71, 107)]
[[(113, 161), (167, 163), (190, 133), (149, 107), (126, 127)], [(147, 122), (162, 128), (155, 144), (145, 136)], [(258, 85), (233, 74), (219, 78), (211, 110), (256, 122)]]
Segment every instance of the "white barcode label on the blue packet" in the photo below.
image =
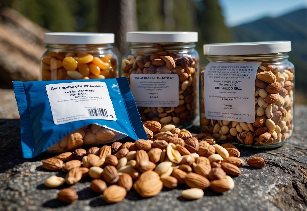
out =
[(116, 121), (105, 82), (72, 82), (46, 85), (56, 125), (83, 119)]

